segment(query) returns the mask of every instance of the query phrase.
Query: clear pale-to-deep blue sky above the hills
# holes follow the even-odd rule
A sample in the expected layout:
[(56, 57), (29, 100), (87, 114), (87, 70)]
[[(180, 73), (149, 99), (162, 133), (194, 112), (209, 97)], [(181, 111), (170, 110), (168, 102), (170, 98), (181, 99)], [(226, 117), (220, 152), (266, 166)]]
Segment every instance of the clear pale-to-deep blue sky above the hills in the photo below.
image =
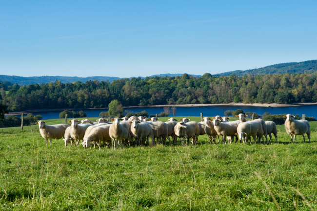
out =
[(317, 59), (317, 0), (0, 0), (0, 74), (202, 75)]

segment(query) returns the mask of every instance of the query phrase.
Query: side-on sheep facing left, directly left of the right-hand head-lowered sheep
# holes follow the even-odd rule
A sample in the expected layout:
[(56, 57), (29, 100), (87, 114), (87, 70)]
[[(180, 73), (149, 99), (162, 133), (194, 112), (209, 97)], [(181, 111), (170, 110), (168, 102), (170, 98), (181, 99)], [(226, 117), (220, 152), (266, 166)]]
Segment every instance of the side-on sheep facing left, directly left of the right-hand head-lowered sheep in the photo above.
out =
[(222, 143), (226, 143), (226, 136), (236, 136), (237, 140), (238, 137), (236, 135), (237, 133), (237, 127), (239, 122), (221, 122), (220, 119), (213, 119), (214, 123), (214, 129), (217, 132), (218, 135), (221, 135), (222, 137)]

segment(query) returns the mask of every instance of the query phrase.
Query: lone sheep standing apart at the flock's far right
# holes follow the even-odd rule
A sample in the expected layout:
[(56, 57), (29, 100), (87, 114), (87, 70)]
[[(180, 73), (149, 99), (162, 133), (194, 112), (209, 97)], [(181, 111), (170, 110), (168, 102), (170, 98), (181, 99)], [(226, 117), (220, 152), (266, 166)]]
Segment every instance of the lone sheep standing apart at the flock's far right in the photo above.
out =
[[(310, 124), (307, 120), (301, 119), (301, 120), (295, 120), (295, 116), (293, 115), (285, 115), (283, 117), (286, 117), (285, 121), (285, 130), (287, 134), (291, 135), (291, 141), (292, 143), (295, 143), (296, 135), (302, 135), (305, 143), (305, 136), (304, 134), (307, 134), (309, 143), (310, 143)], [(294, 141), (293, 141), (293, 135), (294, 135)]]

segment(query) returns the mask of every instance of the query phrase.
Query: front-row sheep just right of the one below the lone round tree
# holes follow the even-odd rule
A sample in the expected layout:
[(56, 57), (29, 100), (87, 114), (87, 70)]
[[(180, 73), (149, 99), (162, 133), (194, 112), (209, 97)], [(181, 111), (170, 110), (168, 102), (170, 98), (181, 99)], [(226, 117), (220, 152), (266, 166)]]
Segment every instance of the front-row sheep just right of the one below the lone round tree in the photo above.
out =
[[(147, 142), (149, 143), (149, 146), (153, 146), (154, 143), (154, 134), (152, 127), (145, 123), (140, 122), (138, 120), (133, 120), (131, 123), (131, 134), (137, 138), (139, 145), (142, 140), (142, 138), (147, 138)], [(149, 137), (152, 140), (152, 143), (149, 142)]]

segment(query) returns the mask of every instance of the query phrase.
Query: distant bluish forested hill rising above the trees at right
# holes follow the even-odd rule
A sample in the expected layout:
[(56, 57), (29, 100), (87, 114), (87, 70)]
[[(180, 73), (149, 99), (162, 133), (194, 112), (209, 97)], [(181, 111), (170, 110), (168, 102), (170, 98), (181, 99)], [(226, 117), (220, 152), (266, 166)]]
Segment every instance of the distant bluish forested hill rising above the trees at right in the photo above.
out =
[(261, 68), (252, 69), (252, 70), (236, 70), (236, 71), (231, 71), (226, 73), (219, 73), (213, 76), (215, 77), (230, 76), (231, 74), (234, 74), (240, 77), (240, 76), (247, 76), (248, 74), (252, 76), (259, 76), (259, 75), (267, 75), (267, 74), (284, 74), (284, 73), (291, 73), (291, 74), (313, 73), (315, 71), (317, 71), (317, 60), (309, 60), (309, 61), (302, 61), (302, 62), (274, 64), (267, 67), (261, 67)]

